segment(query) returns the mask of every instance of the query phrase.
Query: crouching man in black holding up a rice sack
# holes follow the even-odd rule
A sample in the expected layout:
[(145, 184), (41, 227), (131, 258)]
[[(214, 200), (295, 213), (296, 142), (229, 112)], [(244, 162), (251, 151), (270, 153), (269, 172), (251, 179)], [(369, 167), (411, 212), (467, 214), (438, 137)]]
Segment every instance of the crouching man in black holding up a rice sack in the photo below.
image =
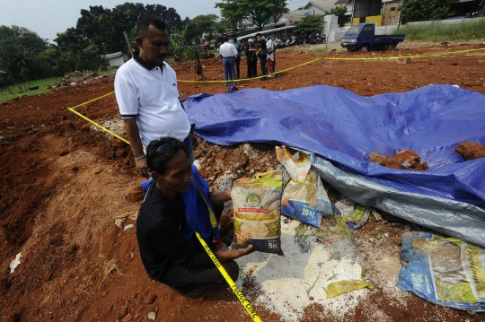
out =
[[(231, 198), (230, 190), (209, 192), (207, 182), (190, 163), (186, 145), (175, 138), (148, 144), (146, 161), (154, 181), (137, 219), (138, 247), (146, 273), (188, 298), (208, 288), (227, 287), (195, 232), (209, 245), (212, 239), (219, 239), (217, 222), (222, 208), (216, 206)], [(239, 267), (234, 259), (251, 251), (250, 246), (214, 253), (235, 281)]]

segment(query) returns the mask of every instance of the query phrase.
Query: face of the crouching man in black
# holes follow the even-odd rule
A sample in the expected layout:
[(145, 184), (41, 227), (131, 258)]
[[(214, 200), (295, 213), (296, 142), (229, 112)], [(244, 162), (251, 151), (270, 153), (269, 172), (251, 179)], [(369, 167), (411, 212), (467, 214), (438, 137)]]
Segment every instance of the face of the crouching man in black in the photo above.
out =
[(175, 153), (172, 160), (167, 163), (164, 174), (156, 176), (158, 187), (164, 191), (186, 192), (190, 188), (192, 167), (187, 154), (183, 150)]

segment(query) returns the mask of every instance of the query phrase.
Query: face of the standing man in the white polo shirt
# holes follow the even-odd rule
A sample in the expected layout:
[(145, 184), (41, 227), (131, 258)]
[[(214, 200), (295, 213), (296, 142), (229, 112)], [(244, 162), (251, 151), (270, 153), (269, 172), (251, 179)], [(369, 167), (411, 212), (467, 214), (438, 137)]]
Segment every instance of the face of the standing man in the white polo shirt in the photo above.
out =
[(169, 50), (170, 38), (167, 30), (159, 30), (150, 25), (145, 37), (135, 39), (140, 48), (140, 58), (152, 65), (163, 63)]

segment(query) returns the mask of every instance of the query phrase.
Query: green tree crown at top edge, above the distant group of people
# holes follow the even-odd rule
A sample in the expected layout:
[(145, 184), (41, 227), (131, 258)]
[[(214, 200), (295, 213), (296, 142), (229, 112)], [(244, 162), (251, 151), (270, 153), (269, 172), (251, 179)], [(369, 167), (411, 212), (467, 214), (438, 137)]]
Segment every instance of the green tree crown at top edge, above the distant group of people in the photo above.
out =
[(271, 17), (276, 18), (279, 13), (287, 13), (286, 0), (223, 0), (216, 3), (216, 7), (232, 10), (234, 16), (241, 16), (258, 26), (259, 30), (269, 23)]

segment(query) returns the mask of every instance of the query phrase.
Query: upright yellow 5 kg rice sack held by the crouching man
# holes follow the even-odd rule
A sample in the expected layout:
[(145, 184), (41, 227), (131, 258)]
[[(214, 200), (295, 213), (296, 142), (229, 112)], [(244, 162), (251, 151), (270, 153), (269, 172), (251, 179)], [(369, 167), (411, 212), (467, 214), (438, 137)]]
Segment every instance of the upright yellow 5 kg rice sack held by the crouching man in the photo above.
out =
[(231, 190), (234, 208), (233, 248), (283, 255), (281, 249), (281, 194), (284, 171), (270, 170), (240, 178)]

